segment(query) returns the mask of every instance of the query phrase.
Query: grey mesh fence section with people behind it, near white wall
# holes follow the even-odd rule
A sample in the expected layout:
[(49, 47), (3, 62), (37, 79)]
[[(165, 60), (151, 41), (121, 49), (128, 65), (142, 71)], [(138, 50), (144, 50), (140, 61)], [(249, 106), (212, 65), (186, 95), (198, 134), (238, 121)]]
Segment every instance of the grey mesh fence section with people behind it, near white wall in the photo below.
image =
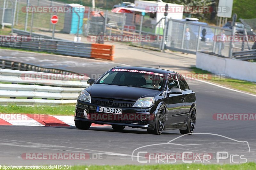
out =
[[(230, 42), (223, 37), (232, 36), (231, 29), (173, 19), (169, 20), (168, 26), (168, 49), (184, 53), (200, 51), (229, 56)], [(235, 44), (232, 42), (232, 45)], [(241, 50), (241, 47), (237, 46), (237, 49)]]

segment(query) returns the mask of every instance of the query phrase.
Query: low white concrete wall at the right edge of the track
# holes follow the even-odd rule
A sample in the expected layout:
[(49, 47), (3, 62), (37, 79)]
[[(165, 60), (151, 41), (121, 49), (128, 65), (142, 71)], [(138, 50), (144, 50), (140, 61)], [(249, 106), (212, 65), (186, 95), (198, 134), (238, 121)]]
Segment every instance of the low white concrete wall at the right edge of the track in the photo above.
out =
[(196, 67), (215, 74), (256, 82), (256, 63), (238, 59), (217, 57), (207, 53), (196, 53)]

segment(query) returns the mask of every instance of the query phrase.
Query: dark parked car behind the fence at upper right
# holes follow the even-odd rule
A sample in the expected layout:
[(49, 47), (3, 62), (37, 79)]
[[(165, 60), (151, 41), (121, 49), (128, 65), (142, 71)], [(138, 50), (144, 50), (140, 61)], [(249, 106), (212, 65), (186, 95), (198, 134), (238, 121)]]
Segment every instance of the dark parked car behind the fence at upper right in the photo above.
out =
[[(247, 35), (256, 35), (255, 32), (253, 32), (253, 29), (251, 28), (250, 25), (244, 25), (243, 23), (236, 22), (235, 26), (236, 26), (236, 33), (235, 33), (235, 35), (244, 35), (244, 26), (245, 26)], [(228, 21), (223, 26), (223, 28), (230, 28), (230, 29), (232, 29), (232, 22)]]

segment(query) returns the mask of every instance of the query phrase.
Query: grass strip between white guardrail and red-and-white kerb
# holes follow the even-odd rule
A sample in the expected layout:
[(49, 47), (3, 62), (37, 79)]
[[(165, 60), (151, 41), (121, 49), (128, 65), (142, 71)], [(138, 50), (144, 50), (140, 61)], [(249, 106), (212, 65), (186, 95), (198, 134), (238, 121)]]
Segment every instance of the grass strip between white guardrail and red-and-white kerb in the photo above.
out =
[(28, 114), (47, 114), (47, 115), (63, 115), (73, 116), (76, 104), (65, 104), (58, 106), (20, 106), (7, 105), (0, 106), (0, 113), (28, 113)]

